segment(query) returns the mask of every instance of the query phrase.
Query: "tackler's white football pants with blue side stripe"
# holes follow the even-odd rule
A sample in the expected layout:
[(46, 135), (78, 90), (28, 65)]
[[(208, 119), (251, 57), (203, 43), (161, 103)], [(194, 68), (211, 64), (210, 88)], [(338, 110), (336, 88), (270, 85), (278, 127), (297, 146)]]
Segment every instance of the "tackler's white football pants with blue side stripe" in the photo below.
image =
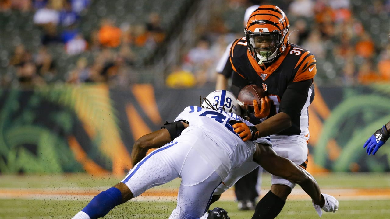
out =
[[(192, 143), (212, 144), (213, 142), (198, 139)], [(134, 197), (137, 197), (147, 189), (165, 184), (177, 177), (181, 178), (177, 207), (169, 218), (202, 217), (213, 191), (222, 180), (214, 168), (188, 144), (188, 141), (185, 143), (172, 141), (154, 150), (138, 162), (122, 182), (129, 187)]]

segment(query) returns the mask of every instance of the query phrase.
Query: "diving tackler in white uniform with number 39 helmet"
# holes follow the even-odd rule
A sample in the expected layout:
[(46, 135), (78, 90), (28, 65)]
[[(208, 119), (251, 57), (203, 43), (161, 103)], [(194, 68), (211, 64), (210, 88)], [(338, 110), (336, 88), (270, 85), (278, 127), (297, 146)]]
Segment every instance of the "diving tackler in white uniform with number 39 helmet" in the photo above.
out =
[(175, 122), (165, 124), (164, 132), (146, 135), (159, 142), (160, 137), (169, 138), (170, 143), (144, 157), (120, 183), (95, 196), (73, 218), (103, 217), (115, 206), (177, 177), (181, 178), (177, 207), (169, 218), (202, 217), (213, 191), (230, 169), (253, 159), (255, 142), (271, 145), (269, 138), (244, 142), (233, 131), (229, 122), (250, 123), (237, 115), (240, 108), (232, 93), (215, 91), (205, 98), (202, 106), (188, 106)]

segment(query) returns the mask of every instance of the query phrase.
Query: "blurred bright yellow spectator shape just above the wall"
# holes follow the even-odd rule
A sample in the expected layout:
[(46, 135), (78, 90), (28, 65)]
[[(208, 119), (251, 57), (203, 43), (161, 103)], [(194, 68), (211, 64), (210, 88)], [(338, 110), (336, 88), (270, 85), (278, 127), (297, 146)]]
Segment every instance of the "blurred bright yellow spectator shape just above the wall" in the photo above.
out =
[(175, 66), (165, 83), (170, 88), (190, 88), (196, 85), (196, 78), (190, 71)]

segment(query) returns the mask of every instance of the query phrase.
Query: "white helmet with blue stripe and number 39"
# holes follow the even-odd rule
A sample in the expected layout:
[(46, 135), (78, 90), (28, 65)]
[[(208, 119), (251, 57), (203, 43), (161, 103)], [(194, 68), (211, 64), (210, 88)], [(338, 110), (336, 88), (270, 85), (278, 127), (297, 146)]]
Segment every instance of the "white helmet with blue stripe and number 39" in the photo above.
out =
[(202, 108), (223, 110), (227, 113), (241, 115), (241, 109), (238, 105), (237, 98), (232, 92), (227, 90), (216, 90), (203, 98)]

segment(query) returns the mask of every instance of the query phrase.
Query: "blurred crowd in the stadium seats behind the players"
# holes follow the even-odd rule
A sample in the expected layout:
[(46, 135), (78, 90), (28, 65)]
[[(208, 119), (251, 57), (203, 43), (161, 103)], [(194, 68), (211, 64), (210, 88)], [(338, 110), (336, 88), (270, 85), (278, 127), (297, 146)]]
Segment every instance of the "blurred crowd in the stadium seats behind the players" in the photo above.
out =
[(245, 9), (254, 4), (274, 4), (287, 14), (289, 41), (316, 56), (317, 84), (390, 81), (390, 0), (214, 0), (207, 25), (181, 46), (179, 61), (144, 73), (165, 55), (168, 40), (182, 34), (180, 25), (201, 7), (197, 2), (0, 0), (0, 86), (104, 82), (126, 88), (155, 83), (156, 75), (168, 87), (215, 83), (216, 64), (226, 46), (244, 36)]

